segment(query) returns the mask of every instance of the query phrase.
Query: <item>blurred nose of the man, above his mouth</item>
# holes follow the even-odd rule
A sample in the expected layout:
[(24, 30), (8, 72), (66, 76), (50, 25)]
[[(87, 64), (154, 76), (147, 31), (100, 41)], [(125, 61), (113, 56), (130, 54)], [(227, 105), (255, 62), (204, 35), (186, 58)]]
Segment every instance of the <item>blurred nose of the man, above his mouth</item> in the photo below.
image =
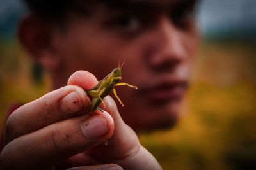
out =
[(154, 71), (174, 69), (186, 57), (186, 46), (182, 41), (185, 33), (165, 16), (151, 33), (153, 41), (148, 50), (148, 65)]

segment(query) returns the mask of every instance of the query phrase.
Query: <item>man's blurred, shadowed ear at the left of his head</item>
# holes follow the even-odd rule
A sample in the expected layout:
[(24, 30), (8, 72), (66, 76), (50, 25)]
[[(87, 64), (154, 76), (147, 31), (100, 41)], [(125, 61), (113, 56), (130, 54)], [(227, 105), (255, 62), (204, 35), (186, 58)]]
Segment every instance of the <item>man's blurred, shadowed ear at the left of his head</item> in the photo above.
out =
[(21, 45), (48, 71), (53, 71), (60, 65), (60, 57), (52, 46), (53, 32), (48, 22), (35, 15), (23, 18), (17, 32)]

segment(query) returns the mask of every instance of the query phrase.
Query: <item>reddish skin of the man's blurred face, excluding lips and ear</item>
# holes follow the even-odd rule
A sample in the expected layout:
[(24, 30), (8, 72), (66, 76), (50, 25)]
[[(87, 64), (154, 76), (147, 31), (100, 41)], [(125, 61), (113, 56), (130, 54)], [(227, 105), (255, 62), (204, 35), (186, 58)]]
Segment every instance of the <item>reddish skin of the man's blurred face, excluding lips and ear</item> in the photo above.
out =
[[(166, 4), (175, 6), (173, 1), (160, 2), (159, 11)], [(135, 131), (172, 125), (178, 118), (182, 100), (156, 106), (139, 92), (144, 87), (153, 86), (162, 77), (178, 78), (188, 83), (198, 50), (198, 32), (193, 17), (188, 16), (191, 18), (186, 22), (187, 27), (182, 29), (170, 22), (166, 16), (168, 10), (166, 13), (156, 11), (156, 20), (149, 26), (131, 24), (127, 26), (131, 29), (127, 29), (107, 26), (108, 20), (120, 16), (112, 15), (104, 6), (98, 8), (100, 12), (86, 22), (84, 18), (71, 16), (72, 26), (65, 34), (58, 31), (54, 34), (54, 51), (61, 55), (61, 67), (67, 68), (65, 71), (52, 71), (55, 87), (61, 87), (65, 83), (63, 80), (77, 69), (85, 69), (101, 80), (118, 66), (118, 57), (121, 61), (127, 57), (122, 68), (122, 81), (138, 86), (138, 91), (125, 87), (117, 89), (125, 104), (124, 108), (118, 105), (125, 122)], [(73, 63), (72, 66), (69, 63)], [(159, 71), (159, 67), (163, 69)]]

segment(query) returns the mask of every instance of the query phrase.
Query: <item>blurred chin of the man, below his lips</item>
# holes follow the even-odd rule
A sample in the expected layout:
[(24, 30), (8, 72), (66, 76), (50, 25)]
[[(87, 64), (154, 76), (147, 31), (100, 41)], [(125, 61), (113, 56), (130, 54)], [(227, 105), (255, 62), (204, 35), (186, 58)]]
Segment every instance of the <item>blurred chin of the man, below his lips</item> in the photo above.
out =
[(127, 125), (134, 131), (141, 132), (174, 127), (179, 120), (180, 106), (181, 101), (172, 101), (162, 105), (140, 103), (120, 107), (118, 110)]

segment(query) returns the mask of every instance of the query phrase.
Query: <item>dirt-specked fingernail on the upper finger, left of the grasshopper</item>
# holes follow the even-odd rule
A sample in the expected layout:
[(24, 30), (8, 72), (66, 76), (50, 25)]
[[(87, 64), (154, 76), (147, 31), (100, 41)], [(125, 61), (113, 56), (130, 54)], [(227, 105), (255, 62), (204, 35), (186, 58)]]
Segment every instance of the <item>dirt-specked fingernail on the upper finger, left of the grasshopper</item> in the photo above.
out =
[(83, 109), (83, 104), (76, 91), (70, 92), (60, 101), (60, 109), (63, 113), (76, 113)]

